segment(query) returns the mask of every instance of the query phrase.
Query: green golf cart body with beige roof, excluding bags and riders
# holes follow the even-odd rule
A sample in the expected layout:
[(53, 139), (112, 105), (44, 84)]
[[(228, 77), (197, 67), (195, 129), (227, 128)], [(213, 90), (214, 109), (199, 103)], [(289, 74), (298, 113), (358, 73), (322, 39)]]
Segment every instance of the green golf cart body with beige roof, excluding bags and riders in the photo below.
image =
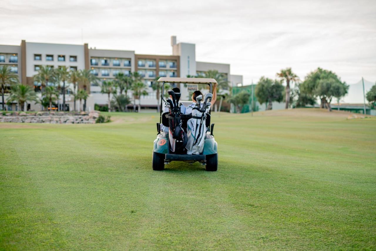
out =
[[(217, 81), (211, 78), (159, 78), (158, 82), (162, 83), (161, 87), (161, 108), (159, 123), (157, 123), (157, 137), (154, 140), (153, 149), (153, 170), (163, 170), (165, 164), (169, 164), (171, 161), (185, 161), (188, 163), (200, 162), (202, 165), (206, 165), (207, 171), (216, 171), (218, 163), (217, 142), (214, 140), (213, 129), (214, 124), (210, 124), (210, 110), (206, 114), (206, 128), (205, 143), (203, 152), (199, 155), (188, 154), (175, 154), (170, 151), (170, 141), (168, 132), (162, 132), (161, 126), (168, 127), (167, 113), (162, 113), (162, 104), (166, 102), (164, 99), (164, 85), (165, 83), (180, 83), (180, 84), (205, 84), (209, 85), (210, 93), (213, 92), (213, 84)], [(188, 119), (192, 117), (192, 114), (182, 114), (183, 128), (186, 128)]]

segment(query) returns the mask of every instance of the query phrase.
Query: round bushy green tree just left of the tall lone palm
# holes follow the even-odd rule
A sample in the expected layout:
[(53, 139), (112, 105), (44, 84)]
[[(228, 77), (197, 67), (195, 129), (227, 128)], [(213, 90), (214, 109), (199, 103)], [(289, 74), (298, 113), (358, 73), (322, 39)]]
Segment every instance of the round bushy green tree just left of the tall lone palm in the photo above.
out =
[(284, 87), (281, 81), (273, 81), (262, 76), (256, 85), (255, 95), (260, 104), (268, 104), (266, 110), (271, 110), (273, 101), (281, 102), (283, 100), (283, 90)]

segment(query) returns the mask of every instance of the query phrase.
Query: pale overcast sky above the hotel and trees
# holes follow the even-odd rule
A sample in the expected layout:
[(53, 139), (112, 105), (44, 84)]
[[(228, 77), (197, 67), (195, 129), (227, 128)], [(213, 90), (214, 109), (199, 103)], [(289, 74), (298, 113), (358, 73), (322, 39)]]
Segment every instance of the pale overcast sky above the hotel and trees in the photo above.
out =
[(376, 0), (0, 0), (0, 44), (21, 40), (171, 54), (170, 36), (197, 61), (231, 64), (244, 83), (317, 67), (349, 84), (376, 81)]

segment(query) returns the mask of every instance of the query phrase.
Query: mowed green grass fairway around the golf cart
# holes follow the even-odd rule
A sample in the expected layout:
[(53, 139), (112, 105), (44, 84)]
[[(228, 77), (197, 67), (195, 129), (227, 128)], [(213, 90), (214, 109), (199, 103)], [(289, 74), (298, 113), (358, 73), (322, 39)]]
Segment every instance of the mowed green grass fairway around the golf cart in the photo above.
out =
[(376, 119), (213, 114), (218, 172), (158, 172), (158, 116), (111, 115), (0, 123), (0, 249), (376, 249)]

